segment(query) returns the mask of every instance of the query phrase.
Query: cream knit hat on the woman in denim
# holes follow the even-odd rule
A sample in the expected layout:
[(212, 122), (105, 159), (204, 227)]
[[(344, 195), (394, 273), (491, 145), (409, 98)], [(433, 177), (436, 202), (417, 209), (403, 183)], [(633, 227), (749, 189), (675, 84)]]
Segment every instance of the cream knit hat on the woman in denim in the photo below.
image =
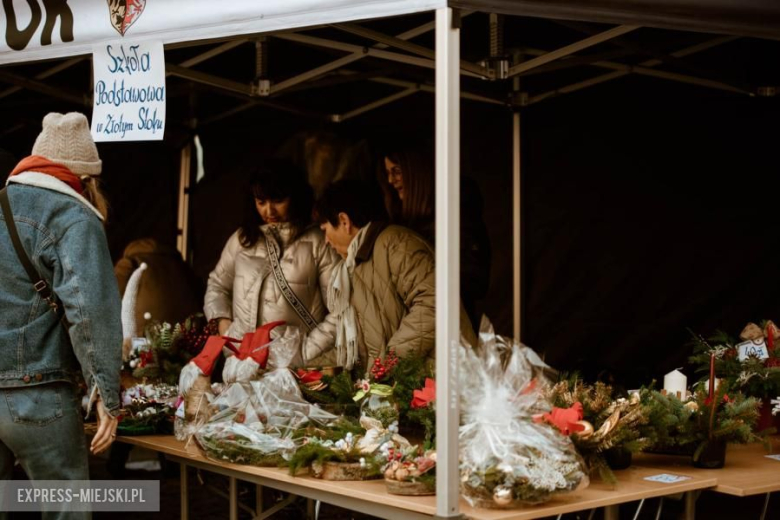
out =
[(87, 118), (78, 112), (47, 114), (32, 154), (62, 164), (78, 176), (100, 175), (103, 167)]

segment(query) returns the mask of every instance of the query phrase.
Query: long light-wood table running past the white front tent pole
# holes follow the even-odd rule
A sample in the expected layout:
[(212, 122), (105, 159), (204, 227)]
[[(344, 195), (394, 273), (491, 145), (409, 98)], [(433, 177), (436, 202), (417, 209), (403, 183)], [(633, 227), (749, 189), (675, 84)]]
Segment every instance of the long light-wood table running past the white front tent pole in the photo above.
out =
[[(404, 497), (391, 495), (387, 493), (384, 482), (381, 480), (332, 482), (309, 476), (291, 477), (285, 469), (256, 468), (227, 462), (215, 462), (203, 455), (196, 446), (195, 441), (192, 441), (189, 446), (185, 447), (185, 443), (177, 441), (173, 436), (169, 435), (118, 437), (117, 440), (164, 453), (168, 458), (181, 464), (181, 518), (183, 520), (188, 518), (189, 513), (187, 504), (188, 466), (226, 475), (231, 479), (231, 518), (236, 518), (238, 512), (235, 500), (236, 479), (382, 518), (430, 520), (436, 514), (435, 496)], [(691, 478), (674, 484), (662, 484), (645, 480), (646, 477), (657, 475), (658, 473), (661, 473), (661, 471), (655, 468), (632, 467), (618, 472), (619, 483), (615, 489), (609, 488), (602, 482), (592, 482), (583, 491), (575, 491), (559, 496), (545, 504), (521, 509), (474, 509), (465, 501), (461, 501), (461, 513), (474, 520), (526, 520), (604, 507), (606, 508), (605, 518), (615, 519), (617, 518), (618, 506), (620, 504), (677, 493), (693, 492), (717, 485), (715, 476), (702, 476), (693, 471), (693, 468), (676, 471), (675, 473), (678, 475), (686, 475)], [(258, 510), (256, 518), (262, 519), (270, 516), (270, 514), (278, 510), (275, 508), (262, 513)]]

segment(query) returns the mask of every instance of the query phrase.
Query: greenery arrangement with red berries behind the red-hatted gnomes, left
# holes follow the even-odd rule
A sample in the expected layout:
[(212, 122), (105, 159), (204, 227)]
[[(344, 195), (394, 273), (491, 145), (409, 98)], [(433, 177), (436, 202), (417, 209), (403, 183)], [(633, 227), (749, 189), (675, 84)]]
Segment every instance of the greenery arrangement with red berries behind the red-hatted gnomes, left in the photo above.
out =
[(217, 334), (216, 321), (194, 314), (182, 323), (155, 322), (146, 327), (145, 338), (134, 340), (125, 369), (136, 380), (176, 384), (179, 373), (197, 355), (210, 335)]

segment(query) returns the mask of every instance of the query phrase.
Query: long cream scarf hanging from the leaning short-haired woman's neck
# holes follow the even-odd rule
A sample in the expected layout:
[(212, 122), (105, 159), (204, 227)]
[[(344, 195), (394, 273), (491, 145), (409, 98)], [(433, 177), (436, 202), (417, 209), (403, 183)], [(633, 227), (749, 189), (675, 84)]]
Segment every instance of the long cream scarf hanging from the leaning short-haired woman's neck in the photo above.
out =
[(355, 256), (366, 238), (366, 224), (358, 231), (347, 248), (347, 259), (334, 270), (328, 286), (328, 302), (336, 314), (336, 361), (338, 365), (352, 370), (358, 361), (357, 318), (352, 299), (352, 271), (355, 269)]

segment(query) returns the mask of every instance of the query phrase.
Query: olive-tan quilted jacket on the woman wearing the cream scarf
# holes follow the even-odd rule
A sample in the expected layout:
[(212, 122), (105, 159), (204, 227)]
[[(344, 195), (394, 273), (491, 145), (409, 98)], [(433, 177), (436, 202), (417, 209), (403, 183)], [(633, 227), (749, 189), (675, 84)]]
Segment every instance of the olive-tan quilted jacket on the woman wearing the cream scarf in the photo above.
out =
[[(370, 368), (374, 359), (394, 349), (399, 357), (419, 353), (433, 359), (436, 342), (436, 270), (431, 247), (416, 233), (401, 226), (373, 222), (355, 257), (352, 306), (358, 322), (360, 361)], [(335, 331), (336, 316), (328, 315)], [(464, 336), (474, 332), (461, 309)], [(332, 349), (334, 342), (304, 344), (309, 361)]]

